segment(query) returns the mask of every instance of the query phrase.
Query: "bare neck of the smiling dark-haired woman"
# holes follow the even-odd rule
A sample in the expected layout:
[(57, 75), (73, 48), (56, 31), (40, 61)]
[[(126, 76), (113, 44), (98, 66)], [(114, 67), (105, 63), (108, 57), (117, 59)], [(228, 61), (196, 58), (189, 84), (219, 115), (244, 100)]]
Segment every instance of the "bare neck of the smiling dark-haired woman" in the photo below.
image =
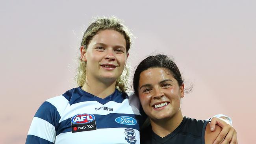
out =
[(165, 120), (150, 119), (152, 130), (159, 137), (165, 137), (172, 133), (182, 122), (183, 115), (181, 109), (172, 118)]

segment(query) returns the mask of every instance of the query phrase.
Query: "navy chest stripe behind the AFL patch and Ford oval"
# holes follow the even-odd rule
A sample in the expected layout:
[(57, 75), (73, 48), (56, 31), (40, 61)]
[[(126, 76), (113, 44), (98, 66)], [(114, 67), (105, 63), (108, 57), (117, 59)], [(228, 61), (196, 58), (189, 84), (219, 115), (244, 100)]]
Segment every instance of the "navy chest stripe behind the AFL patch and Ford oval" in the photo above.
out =
[[(97, 129), (126, 127), (126, 128), (137, 129), (139, 131), (140, 121), (142, 121), (144, 119), (142, 116), (136, 115), (136, 114), (111, 113), (111, 114), (107, 114), (107, 115), (99, 115), (99, 114), (93, 114), (93, 115), (95, 116)], [(115, 119), (120, 116), (130, 116), (130, 117), (134, 118), (135, 120), (137, 120), (137, 124), (126, 125), (126, 124), (119, 124), (119, 123), (115, 122)], [(71, 118), (68, 118), (67, 120), (60, 122), (59, 127), (61, 127), (61, 129), (58, 129), (58, 131), (56, 132), (56, 136), (59, 135), (60, 133), (72, 131)]]

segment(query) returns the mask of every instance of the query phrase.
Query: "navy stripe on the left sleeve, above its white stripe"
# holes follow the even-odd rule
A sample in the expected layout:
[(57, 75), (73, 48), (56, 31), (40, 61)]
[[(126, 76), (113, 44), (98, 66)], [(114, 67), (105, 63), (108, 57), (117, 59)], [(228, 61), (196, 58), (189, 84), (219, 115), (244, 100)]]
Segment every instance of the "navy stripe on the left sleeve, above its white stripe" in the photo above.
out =
[(52, 105), (52, 103), (49, 102), (44, 102), (39, 107), (39, 109), (35, 113), (35, 117), (46, 120), (47, 122), (52, 124), (55, 127), (55, 129), (58, 129), (58, 122), (61, 118), (56, 107), (54, 107), (54, 105)]

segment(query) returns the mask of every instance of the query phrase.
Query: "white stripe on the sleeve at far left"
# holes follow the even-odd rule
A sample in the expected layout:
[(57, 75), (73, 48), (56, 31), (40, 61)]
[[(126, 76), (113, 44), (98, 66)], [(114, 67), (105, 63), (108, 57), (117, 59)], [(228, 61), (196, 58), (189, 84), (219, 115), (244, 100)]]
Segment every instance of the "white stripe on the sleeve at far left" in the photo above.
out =
[(54, 142), (56, 131), (55, 127), (46, 120), (34, 117), (28, 135), (34, 135), (50, 142)]

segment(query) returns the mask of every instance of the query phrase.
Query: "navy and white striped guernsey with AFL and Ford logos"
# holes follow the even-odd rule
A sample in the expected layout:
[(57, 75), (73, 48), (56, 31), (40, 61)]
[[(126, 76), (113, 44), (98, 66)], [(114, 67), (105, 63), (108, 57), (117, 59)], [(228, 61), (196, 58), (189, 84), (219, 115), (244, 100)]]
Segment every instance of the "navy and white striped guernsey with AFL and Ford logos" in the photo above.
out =
[(74, 88), (39, 107), (26, 144), (139, 144), (140, 109), (134, 94), (101, 99)]

